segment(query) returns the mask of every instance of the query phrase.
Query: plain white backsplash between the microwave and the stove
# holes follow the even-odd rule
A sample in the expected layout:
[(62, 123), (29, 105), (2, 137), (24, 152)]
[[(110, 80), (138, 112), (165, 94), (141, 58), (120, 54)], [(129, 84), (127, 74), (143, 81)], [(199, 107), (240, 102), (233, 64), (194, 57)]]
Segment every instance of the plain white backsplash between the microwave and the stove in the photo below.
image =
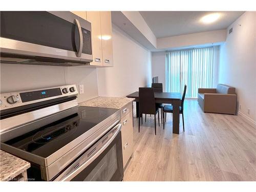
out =
[(86, 67), (55, 67), (1, 63), (1, 93), (64, 84), (84, 84), (78, 102), (98, 96), (97, 70)]

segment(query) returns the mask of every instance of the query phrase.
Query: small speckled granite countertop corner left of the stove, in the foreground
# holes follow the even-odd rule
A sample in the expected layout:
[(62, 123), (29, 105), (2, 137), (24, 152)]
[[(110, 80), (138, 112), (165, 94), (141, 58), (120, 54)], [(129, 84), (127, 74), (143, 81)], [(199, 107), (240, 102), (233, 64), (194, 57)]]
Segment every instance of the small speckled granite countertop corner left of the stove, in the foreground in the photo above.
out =
[(0, 181), (9, 181), (29, 167), (29, 162), (0, 150)]

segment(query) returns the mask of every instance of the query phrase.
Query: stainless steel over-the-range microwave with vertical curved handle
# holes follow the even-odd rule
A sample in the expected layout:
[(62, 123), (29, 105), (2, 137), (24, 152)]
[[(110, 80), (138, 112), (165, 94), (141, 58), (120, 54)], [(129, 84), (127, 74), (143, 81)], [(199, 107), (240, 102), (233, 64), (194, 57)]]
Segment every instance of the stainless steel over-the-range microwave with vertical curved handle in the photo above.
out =
[(91, 23), (69, 11), (1, 11), (0, 48), (2, 63), (87, 65)]

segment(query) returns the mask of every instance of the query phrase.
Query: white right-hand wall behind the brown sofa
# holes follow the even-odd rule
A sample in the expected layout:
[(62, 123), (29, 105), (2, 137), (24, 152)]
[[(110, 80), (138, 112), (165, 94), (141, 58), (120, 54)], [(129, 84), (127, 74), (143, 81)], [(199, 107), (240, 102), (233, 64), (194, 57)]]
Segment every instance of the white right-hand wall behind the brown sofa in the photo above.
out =
[[(231, 27), (233, 32), (228, 35)], [(256, 12), (245, 12), (227, 28), (226, 42), (220, 48), (219, 83), (236, 87), (239, 113), (256, 124), (255, 39)]]

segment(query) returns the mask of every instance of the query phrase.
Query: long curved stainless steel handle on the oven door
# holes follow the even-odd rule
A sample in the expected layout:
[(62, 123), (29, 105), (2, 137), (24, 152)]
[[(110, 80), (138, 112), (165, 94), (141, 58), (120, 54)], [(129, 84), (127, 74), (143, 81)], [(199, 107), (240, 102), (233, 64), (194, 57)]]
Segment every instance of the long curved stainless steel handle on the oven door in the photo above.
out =
[(56, 179), (54, 179), (54, 181), (70, 181), (76, 175), (78, 175), (84, 168), (86, 168), (90, 163), (92, 163), (106, 149), (106, 147), (108, 147), (112, 143), (112, 141), (116, 138), (117, 134), (120, 132), (121, 126), (122, 124), (119, 123), (112, 129), (113, 132), (114, 130), (116, 130), (115, 134), (112, 135), (111, 139), (109, 139), (108, 142), (106, 142), (102, 147), (97, 149), (97, 152), (90, 159), (88, 159), (82, 165), (78, 165), (76, 161), (75, 163), (78, 165), (78, 168), (74, 167), (75, 169), (71, 173), (69, 173), (70, 170), (67, 169), (67, 171), (60, 174)]

